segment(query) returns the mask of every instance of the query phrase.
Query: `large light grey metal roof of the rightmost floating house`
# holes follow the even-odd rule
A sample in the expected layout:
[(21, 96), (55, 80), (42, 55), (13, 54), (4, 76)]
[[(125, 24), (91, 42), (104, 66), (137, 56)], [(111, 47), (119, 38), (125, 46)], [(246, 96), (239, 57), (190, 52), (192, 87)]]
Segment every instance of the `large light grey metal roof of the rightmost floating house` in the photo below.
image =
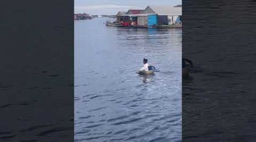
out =
[(182, 7), (148, 6), (158, 15), (182, 15)]

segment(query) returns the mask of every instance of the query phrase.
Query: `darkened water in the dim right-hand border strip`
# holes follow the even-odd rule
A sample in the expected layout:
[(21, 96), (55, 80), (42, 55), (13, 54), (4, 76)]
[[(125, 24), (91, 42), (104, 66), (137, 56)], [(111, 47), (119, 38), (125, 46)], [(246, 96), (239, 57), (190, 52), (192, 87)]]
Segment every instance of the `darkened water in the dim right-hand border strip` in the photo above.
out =
[(256, 1), (183, 1), (183, 141), (255, 141)]

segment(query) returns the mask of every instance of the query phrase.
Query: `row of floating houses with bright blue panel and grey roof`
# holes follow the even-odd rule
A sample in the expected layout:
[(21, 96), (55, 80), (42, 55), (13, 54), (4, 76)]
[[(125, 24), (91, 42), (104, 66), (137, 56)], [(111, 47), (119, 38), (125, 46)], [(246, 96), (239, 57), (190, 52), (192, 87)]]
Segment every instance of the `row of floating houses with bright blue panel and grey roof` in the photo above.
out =
[(116, 21), (106, 26), (115, 27), (182, 27), (182, 7), (147, 6), (144, 10), (119, 11)]

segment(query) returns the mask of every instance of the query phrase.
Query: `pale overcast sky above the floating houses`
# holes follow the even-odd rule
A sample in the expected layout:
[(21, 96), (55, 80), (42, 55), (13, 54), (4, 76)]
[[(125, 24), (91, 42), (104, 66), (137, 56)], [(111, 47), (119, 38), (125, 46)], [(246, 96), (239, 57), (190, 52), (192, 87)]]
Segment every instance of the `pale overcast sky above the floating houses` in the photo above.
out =
[(181, 5), (181, 0), (74, 0), (74, 12), (90, 15), (114, 15), (118, 11), (145, 9), (148, 5)]

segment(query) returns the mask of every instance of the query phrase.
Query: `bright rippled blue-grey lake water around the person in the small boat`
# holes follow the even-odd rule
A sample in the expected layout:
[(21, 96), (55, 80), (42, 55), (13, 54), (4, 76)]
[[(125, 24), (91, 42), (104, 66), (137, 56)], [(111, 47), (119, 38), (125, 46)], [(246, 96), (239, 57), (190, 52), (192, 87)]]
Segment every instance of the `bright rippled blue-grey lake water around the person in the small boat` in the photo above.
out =
[(106, 20), (75, 21), (75, 141), (181, 141), (181, 29)]

